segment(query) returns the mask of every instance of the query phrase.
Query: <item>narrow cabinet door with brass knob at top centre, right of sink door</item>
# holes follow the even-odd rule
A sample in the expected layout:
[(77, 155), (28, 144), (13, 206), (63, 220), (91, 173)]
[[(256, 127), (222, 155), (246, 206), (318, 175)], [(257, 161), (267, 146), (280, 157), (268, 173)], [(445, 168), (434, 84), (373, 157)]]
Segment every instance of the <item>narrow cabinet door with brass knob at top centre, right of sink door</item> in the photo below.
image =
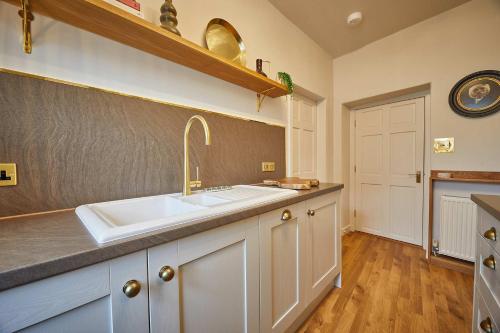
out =
[(304, 203), (260, 216), (261, 332), (283, 332), (305, 307)]

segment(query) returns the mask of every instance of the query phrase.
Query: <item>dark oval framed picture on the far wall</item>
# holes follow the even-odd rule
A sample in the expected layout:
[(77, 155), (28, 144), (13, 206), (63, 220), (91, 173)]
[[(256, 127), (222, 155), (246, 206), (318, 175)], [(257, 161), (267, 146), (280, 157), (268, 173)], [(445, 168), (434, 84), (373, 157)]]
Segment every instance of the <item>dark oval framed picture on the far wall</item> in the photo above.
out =
[(472, 73), (457, 82), (448, 98), (461, 116), (478, 118), (500, 111), (500, 71)]

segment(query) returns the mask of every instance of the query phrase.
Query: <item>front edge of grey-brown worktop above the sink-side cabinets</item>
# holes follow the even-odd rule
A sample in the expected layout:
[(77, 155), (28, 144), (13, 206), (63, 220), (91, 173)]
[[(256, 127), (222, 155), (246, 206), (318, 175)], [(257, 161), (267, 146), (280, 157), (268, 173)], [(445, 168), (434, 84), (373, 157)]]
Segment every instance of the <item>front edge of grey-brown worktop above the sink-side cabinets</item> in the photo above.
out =
[[(0, 292), (7, 289), (19, 287), (38, 280), (46, 279), (55, 275), (74, 271), (86, 266), (95, 265), (100, 262), (125, 256), (137, 251), (145, 250), (157, 245), (165, 244), (191, 235), (215, 229), (227, 224), (235, 223), (247, 218), (258, 216), (281, 207), (289, 206), (312, 199), (324, 194), (336, 192), (344, 188), (343, 184), (325, 184), (325, 188), (312, 191), (301, 191), (297, 197), (287, 198), (272, 202), (267, 205), (248, 208), (243, 211), (221, 215), (208, 220), (189, 224), (185, 227), (156, 231), (144, 235), (139, 235), (130, 239), (103, 245), (102, 247), (72, 253), (64, 257), (54, 258), (40, 263), (27, 266), (20, 266), (0, 273)], [(324, 186), (325, 186), (324, 185)], [(58, 214), (58, 213), (54, 213)], [(89, 234), (89, 237), (90, 236)]]

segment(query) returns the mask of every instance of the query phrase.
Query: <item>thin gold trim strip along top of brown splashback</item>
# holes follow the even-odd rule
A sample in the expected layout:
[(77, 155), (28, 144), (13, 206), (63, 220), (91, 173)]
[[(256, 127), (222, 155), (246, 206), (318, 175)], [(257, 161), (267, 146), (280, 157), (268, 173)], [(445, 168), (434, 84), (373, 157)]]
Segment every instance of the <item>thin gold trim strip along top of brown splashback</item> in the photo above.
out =
[(60, 80), (60, 79), (56, 79), (56, 78), (52, 78), (52, 77), (47, 77), (47, 76), (42, 76), (42, 75), (37, 75), (37, 74), (31, 74), (31, 73), (26, 73), (26, 72), (20, 72), (20, 71), (16, 71), (16, 70), (12, 70), (12, 69), (7, 69), (7, 68), (0, 67), (0, 73), (2, 73), (2, 72), (3, 73), (8, 73), (8, 74), (14, 74), (14, 75), (19, 75), (19, 76), (24, 76), (24, 77), (29, 77), (29, 78), (38, 79), (38, 80), (44, 80), (44, 81), (49, 81), (49, 82), (54, 82), (54, 83), (65, 84), (65, 85), (73, 86), (73, 87), (79, 87), (79, 88), (85, 88), (85, 89), (93, 89), (93, 90), (96, 90), (96, 91), (105, 92), (105, 93), (111, 93), (111, 94), (115, 94), (115, 95), (119, 95), (119, 96), (124, 96), (124, 97), (137, 98), (137, 99), (141, 99), (141, 100), (144, 100), (144, 101), (149, 101), (149, 102), (159, 103), (159, 104), (163, 104), (163, 105), (174, 106), (174, 107), (178, 107), (178, 108), (185, 109), (185, 110), (190, 110), (190, 111), (198, 111), (198, 112), (204, 112), (204, 113), (209, 113), (209, 114), (216, 114), (216, 115), (219, 115), (219, 116), (222, 116), (222, 117), (233, 118), (233, 119), (244, 120), (244, 121), (253, 121), (253, 122), (256, 122), (256, 123), (259, 123), (259, 124), (265, 124), (265, 125), (268, 125), (268, 126), (286, 128), (286, 125), (268, 123), (268, 122), (265, 122), (265, 121), (260, 121), (260, 120), (245, 118), (243, 116), (235, 116), (235, 115), (230, 115), (230, 114), (223, 113), (223, 112), (200, 109), (200, 108), (189, 106), (189, 105), (183, 105), (183, 104), (177, 104), (177, 103), (172, 103), (172, 102), (166, 102), (166, 101), (162, 101), (162, 100), (154, 99), (154, 98), (150, 98), (150, 97), (143, 97), (143, 96), (138, 96), (138, 95), (132, 95), (132, 94), (127, 94), (127, 93), (123, 93), (123, 92), (119, 92), (119, 91), (115, 91), (115, 90), (110, 90), (110, 89), (105, 89), (105, 88), (98, 88), (98, 87), (92, 87), (92, 86), (85, 85), (85, 84), (82, 84), (82, 83), (65, 81), (65, 80)]

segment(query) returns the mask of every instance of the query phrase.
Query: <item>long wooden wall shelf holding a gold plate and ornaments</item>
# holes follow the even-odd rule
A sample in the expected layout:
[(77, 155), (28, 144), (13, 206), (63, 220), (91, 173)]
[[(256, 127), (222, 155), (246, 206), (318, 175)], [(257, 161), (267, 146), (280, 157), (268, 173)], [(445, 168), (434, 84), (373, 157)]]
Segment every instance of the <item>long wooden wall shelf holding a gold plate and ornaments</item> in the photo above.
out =
[[(2, 0), (20, 5), (19, 0)], [(31, 0), (31, 11), (270, 97), (287, 88), (103, 0)], [(158, 15), (160, 12), (158, 10)]]

